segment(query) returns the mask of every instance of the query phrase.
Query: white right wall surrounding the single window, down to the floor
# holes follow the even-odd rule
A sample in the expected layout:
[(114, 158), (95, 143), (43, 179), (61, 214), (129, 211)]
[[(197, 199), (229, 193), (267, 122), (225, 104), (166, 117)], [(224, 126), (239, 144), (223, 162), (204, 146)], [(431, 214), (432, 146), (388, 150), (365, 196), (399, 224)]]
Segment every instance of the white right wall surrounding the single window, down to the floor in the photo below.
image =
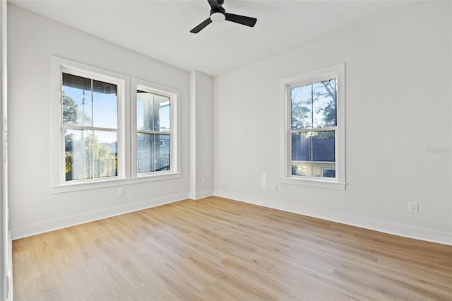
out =
[[(452, 244), (451, 19), (415, 4), (215, 77), (215, 195)], [(273, 191), (279, 81), (342, 62), (347, 189)]]

